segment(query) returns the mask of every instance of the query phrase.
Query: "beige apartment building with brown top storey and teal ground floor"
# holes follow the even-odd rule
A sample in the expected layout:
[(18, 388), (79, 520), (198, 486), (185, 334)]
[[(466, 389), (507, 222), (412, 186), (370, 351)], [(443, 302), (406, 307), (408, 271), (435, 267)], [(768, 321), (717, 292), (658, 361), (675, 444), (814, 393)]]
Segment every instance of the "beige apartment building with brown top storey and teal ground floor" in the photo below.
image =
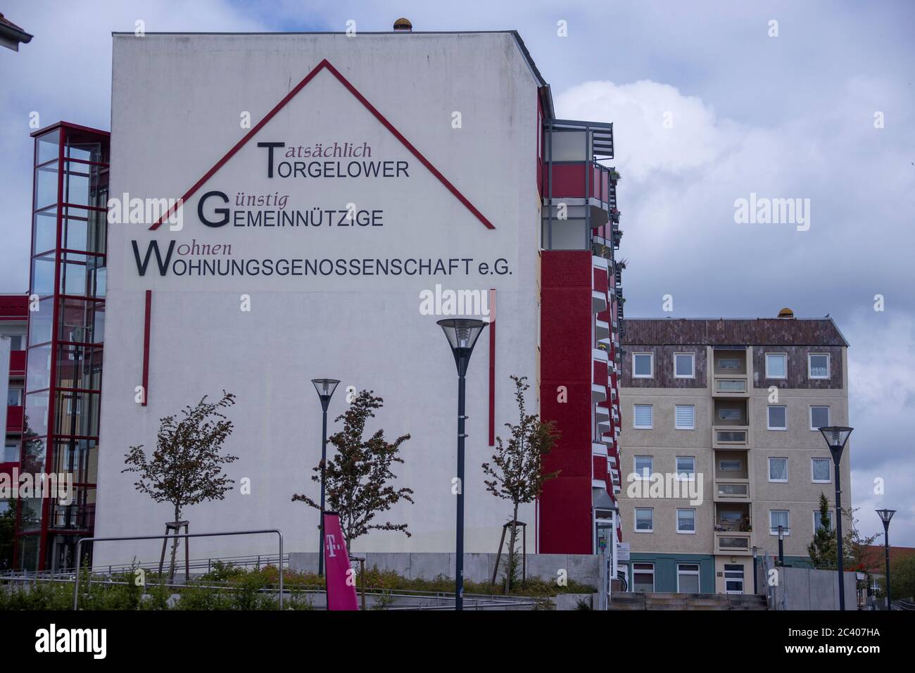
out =
[[(834, 465), (818, 428), (848, 423), (847, 348), (830, 318), (626, 320), (620, 437), (630, 587), (750, 593), (753, 553), (809, 562)], [(850, 447), (841, 461), (851, 492)], [(831, 515), (831, 516), (834, 516)], [(847, 521), (843, 521), (847, 530)]]

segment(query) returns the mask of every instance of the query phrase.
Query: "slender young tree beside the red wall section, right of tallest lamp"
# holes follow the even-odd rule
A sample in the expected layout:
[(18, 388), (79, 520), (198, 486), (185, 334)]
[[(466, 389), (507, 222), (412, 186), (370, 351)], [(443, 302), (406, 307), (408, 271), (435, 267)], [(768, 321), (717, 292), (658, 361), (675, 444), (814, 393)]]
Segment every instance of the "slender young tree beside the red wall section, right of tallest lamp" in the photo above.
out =
[(492, 463), (483, 463), (483, 473), (490, 476), (484, 480), (487, 490), (503, 500), (511, 500), (511, 536), (509, 537), (508, 572), (506, 591), (511, 590), (511, 578), (515, 573), (515, 541), (518, 529), (518, 507), (533, 501), (544, 490), (544, 483), (559, 472), (544, 472), (544, 457), (553, 450), (560, 435), (554, 421), (544, 423), (536, 414), (528, 414), (524, 393), (531, 387), (525, 383), (527, 376), (511, 375), (515, 383), (515, 401), (518, 404), (518, 423), (506, 423), (510, 430), (509, 440), (496, 438), (496, 450)]

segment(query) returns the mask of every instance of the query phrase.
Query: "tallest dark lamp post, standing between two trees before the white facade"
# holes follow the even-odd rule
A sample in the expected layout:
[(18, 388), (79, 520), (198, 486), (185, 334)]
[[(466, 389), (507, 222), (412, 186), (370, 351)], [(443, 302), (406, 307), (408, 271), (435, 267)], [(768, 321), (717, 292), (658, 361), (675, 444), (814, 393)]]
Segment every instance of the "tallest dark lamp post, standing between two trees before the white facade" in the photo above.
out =
[(455, 610), (464, 609), (464, 413), (465, 381), (470, 355), (479, 335), (486, 327), (482, 320), (463, 318), (438, 320), (445, 332), (451, 353), (458, 367), (458, 532), (455, 549)]

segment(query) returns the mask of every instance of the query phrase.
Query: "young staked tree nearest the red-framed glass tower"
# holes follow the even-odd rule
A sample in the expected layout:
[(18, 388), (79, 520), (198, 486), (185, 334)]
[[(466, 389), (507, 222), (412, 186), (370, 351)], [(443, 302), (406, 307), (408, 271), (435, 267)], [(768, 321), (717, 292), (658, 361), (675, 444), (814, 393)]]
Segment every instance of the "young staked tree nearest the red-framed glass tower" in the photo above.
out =
[[(160, 419), (152, 455), (146, 455), (143, 444), (130, 447), (124, 454), (127, 467), (121, 472), (136, 472), (137, 491), (148, 494), (156, 503), (171, 503), (176, 526), (185, 507), (222, 500), (235, 483), (222, 473), (222, 467), (237, 461), (238, 456), (220, 453), (222, 443), (234, 429), (221, 409), (233, 404), (235, 396), (224, 390), (219, 402), (208, 402), (203, 396), (197, 405), (181, 411), (183, 418)], [(177, 552), (178, 537), (172, 540), (169, 579), (175, 573)]]

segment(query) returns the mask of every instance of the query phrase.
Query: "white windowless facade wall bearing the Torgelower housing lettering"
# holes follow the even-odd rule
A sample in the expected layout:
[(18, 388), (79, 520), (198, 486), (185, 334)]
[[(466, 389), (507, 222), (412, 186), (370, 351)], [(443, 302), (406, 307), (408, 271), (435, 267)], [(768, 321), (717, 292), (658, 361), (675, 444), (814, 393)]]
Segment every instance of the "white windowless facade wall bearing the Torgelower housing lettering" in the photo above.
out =
[[(346, 386), (385, 400), (371, 428), (390, 440), (409, 432), (397, 485), (414, 489), (377, 521), (409, 524), (412, 537), (375, 532), (359, 551), (450, 551), (455, 537), (457, 376), (439, 317), (421, 315), (419, 293), (435, 288), (496, 288), (496, 425), (514, 421), (510, 374), (536, 381), (537, 81), (510, 33), (394, 35), (171, 35), (113, 37), (110, 195), (177, 197), (256, 125), (287, 92), (327, 59), (495, 226), (486, 228), (352, 94), (318, 73), (251, 142), (185, 204), (183, 228), (112, 224), (96, 537), (160, 534), (172, 517), (134, 489), (124, 452), (151, 449), (158, 419), (224, 388), (238, 396), (226, 450), (240, 456), (227, 472), (251, 479), (225, 500), (188, 508), (191, 532), (280, 528), (287, 551), (318, 548), (318, 513), (290, 502), (318, 497), (310, 481), (320, 457), (321, 410), (309, 379), (339, 378), (332, 420)], [(459, 112), (461, 127), (453, 127)], [(257, 142), (287, 146), (367, 142), (372, 159), (409, 163), (409, 179), (268, 179)], [(277, 150), (279, 152), (280, 150)], [(293, 160), (293, 159), (290, 159)], [(336, 159), (334, 159), (336, 160)], [(383, 210), (381, 227), (309, 230), (214, 228), (199, 221), (210, 190), (289, 195), (287, 209)], [(222, 206), (223, 204), (219, 204)], [(229, 208), (234, 208), (229, 204)], [(472, 271), (412, 277), (145, 276), (145, 255), (178, 244), (231, 244), (233, 258), (473, 258)], [(502, 258), (511, 274), (479, 273)], [(491, 268), (491, 266), (490, 266)], [(142, 380), (144, 296), (153, 290), (148, 406), (135, 402)], [(250, 296), (243, 312), (241, 296)], [(488, 332), (488, 331), (487, 331)], [(485, 491), (480, 463), (488, 446), (489, 334), (468, 373), (466, 546), (495, 551), (511, 507)], [(532, 385), (529, 407), (536, 408)], [(336, 426), (339, 427), (339, 426)], [(335, 430), (331, 423), (329, 432)], [(522, 520), (534, 522), (533, 508)], [(533, 526), (532, 526), (533, 527)], [(529, 536), (533, 550), (533, 536)], [(159, 543), (100, 543), (98, 564), (156, 559)], [(192, 540), (191, 556), (274, 553), (275, 538)]]

